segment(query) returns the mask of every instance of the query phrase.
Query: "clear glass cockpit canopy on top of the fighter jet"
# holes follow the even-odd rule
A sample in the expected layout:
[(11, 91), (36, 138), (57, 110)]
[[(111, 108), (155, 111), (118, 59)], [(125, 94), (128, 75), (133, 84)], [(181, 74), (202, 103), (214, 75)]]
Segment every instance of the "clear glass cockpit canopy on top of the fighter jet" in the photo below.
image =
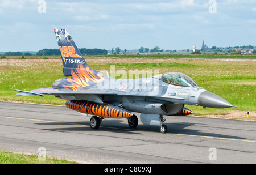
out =
[(167, 72), (164, 74), (156, 75), (155, 78), (162, 80), (165, 83), (172, 84), (175, 86), (183, 86), (183, 87), (195, 87), (196, 83), (185, 74), (181, 74), (179, 72)]

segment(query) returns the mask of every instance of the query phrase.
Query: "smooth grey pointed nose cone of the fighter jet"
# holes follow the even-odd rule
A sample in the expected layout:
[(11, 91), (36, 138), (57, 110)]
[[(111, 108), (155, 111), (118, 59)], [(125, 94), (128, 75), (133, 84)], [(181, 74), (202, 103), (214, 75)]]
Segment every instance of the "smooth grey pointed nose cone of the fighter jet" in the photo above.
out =
[(212, 92), (202, 92), (198, 97), (198, 103), (200, 106), (209, 108), (230, 108), (236, 107), (230, 104), (228, 101), (222, 99)]

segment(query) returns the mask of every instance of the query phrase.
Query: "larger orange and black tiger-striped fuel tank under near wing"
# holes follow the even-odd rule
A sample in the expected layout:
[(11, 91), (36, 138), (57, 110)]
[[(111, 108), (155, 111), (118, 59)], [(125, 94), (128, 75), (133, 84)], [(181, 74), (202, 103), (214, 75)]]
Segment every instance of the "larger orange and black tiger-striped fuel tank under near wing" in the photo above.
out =
[(133, 116), (129, 110), (106, 103), (95, 103), (85, 100), (68, 100), (65, 104), (67, 108), (77, 112), (96, 115), (108, 118), (128, 118)]

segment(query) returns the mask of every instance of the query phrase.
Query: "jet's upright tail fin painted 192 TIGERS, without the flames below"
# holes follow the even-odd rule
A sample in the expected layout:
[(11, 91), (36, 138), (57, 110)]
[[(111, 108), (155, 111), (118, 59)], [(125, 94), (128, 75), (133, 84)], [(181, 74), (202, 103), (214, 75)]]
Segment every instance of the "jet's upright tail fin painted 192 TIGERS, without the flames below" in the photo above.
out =
[(86, 69), (89, 66), (82, 57), (67, 29), (54, 29), (63, 61), (64, 76), (72, 76), (71, 72), (76, 69)]

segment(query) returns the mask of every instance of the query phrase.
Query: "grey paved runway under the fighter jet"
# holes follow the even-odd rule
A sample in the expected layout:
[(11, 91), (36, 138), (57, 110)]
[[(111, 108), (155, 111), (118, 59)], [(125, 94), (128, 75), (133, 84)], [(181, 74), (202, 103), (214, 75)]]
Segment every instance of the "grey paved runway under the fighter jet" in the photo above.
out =
[[(138, 116), (139, 114), (134, 113)], [(75, 160), (80, 163), (256, 163), (256, 122), (164, 116), (168, 127), (127, 119), (89, 126), (91, 116), (64, 106), (0, 102), (0, 150)]]

